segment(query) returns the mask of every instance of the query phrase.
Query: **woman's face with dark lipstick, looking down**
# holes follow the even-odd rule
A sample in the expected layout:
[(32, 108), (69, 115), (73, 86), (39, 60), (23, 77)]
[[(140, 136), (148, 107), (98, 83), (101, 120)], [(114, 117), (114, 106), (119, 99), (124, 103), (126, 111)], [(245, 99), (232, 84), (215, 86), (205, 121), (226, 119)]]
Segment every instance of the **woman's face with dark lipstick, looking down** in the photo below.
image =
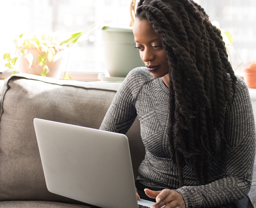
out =
[(167, 75), (169, 72), (168, 59), (162, 41), (160, 36), (154, 32), (148, 20), (136, 18), (133, 25), (133, 34), (136, 47), (140, 50), (140, 58), (145, 63), (148, 71), (156, 78)]

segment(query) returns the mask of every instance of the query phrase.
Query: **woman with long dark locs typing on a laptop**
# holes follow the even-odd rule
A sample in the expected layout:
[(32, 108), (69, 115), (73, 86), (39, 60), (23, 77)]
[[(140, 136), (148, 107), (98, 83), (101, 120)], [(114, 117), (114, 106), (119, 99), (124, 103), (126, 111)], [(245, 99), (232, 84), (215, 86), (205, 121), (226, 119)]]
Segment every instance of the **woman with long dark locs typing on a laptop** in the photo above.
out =
[(235, 207), (250, 190), (255, 124), (220, 30), (192, 0), (141, 0), (133, 33), (146, 68), (127, 75), (100, 129), (126, 133), (138, 115), (136, 187), (155, 208)]

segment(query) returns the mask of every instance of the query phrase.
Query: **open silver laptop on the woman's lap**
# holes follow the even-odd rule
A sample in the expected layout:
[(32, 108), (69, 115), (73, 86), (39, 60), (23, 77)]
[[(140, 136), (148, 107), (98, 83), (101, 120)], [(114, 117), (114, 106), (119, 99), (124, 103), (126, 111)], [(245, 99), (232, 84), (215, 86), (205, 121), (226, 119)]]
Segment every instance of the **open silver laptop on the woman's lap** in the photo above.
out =
[(124, 134), (34, 119), (47, 189), (102, 208), (138, 208)]

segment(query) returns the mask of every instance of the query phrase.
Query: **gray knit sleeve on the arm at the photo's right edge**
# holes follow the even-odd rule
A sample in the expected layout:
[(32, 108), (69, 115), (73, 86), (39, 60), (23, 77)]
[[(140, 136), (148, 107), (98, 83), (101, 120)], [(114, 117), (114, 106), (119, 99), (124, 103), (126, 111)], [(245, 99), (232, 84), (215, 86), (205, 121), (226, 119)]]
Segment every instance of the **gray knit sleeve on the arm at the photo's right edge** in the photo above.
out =
[[(232, 110), (232, 111), (231, 111)], [(226, 107), (227, 151), (225, 177), (202, 186), (183, 186), (178, 191), (186, 208), (215, 207), (245, 197), (252, 183), (255, 157), (255, 123), (246, 84), (238, 79), (231, 108)]]

